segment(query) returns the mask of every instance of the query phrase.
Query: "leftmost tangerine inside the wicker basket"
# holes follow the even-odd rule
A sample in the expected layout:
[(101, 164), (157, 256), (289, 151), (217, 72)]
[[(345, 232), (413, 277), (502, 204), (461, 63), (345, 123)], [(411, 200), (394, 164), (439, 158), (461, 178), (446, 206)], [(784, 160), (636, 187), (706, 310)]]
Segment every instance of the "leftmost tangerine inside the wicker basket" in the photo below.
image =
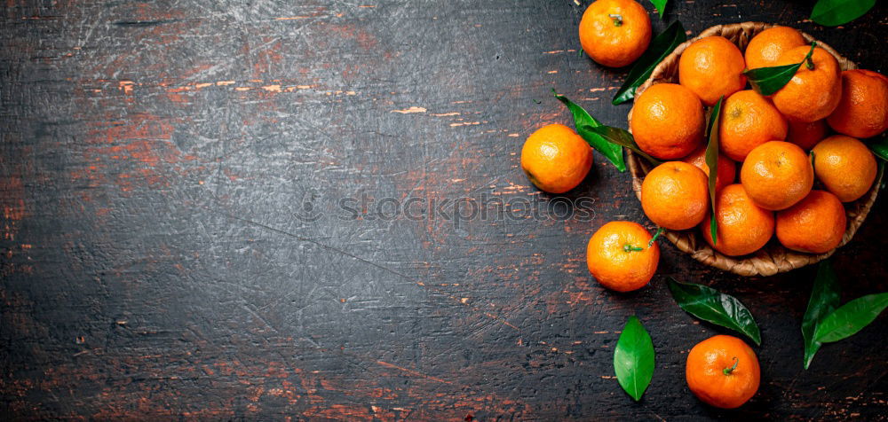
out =
[(635, 98), (630, 129), (642, 151), (662, 160), (678, 159), (703, 142), (703, 105), (681, 85), (657, 83)]

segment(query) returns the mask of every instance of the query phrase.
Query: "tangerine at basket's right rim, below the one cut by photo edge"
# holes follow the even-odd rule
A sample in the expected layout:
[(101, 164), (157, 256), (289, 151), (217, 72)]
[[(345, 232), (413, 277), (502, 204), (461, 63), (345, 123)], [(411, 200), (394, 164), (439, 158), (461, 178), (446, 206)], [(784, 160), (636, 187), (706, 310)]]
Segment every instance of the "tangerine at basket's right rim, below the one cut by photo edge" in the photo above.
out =
[(833, 135), (811, 151), (814, 174), (842, 202), (859, 199), (876, 180), (876, 157), (853, 137)]

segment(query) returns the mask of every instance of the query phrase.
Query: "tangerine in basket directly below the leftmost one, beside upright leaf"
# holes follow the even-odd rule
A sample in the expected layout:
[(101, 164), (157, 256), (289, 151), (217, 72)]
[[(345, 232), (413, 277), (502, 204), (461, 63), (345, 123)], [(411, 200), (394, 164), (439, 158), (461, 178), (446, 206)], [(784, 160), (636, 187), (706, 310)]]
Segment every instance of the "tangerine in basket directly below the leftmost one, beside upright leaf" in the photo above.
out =
[(654, 224), (686, 230), (703, 221), (710, 204), (708, 179), (700, 168), (683, 161), (655, 167), (641, 184), (641, 207)]

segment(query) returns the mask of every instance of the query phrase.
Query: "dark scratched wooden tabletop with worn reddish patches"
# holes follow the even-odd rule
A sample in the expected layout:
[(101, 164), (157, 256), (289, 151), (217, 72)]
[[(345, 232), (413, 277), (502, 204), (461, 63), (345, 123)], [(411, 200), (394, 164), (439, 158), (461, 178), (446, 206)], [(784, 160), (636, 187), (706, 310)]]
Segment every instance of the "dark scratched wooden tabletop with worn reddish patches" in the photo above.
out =
[[(2, 417), (885, 418), (888, 318), (802, 369), (813, 268), (734, 277), (665, 243), (637, 293), (591, 279), (601, 224), (652, 227), (629, 176), (596, 155), (556, 198), (519, 170), (570, 122), (551, 88), (625, 127), (581, 3), (4, 2)], [(886, 2), (838, 28), (801, 0), (675, 3), (692, 34), (778, 22), (888, 70)], [(885, 205), (836, 254), (845, 301), (888, 290)], [(667, 276), (757, 317), (740, 410), (687, 390), (687, 351), (725, 331)], [(613, 377), (630, 315), (657, 350), (641, 402)]]

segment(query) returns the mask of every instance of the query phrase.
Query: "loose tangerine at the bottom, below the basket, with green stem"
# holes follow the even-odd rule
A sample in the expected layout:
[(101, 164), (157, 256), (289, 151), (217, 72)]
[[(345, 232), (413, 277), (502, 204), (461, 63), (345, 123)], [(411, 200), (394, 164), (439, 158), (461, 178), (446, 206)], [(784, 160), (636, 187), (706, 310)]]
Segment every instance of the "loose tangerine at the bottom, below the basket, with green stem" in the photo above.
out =
[(756, 352), (745, 341), (717, 335), (697, 343), (687, 354), (685, 378), (702, 402), (736, 409), (756, 395), (761, 369)]

